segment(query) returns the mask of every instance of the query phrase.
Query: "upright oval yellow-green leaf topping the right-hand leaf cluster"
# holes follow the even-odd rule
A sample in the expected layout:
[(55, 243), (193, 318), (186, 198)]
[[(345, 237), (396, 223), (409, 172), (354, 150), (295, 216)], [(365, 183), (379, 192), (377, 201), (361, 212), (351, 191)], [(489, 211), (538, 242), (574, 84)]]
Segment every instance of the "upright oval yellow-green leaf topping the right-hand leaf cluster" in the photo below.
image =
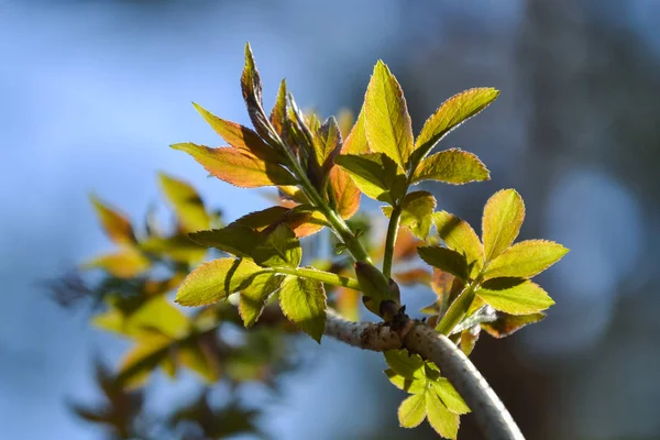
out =
[(488, 199), (482, 219), (486, 262), (512, 245), (524, 220), (525, 204), (515, 189), (502, 189)]

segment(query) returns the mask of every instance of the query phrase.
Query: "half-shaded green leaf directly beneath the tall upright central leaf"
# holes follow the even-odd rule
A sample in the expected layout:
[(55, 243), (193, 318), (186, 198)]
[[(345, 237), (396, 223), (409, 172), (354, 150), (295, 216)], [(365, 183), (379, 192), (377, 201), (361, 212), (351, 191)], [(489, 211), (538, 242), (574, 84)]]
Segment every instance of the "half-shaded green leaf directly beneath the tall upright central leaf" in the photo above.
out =
[(345, 169), (369, 197), (394, 205), (406, 190), (404, 170), (383, 153), (342, 154), (334, 163)]

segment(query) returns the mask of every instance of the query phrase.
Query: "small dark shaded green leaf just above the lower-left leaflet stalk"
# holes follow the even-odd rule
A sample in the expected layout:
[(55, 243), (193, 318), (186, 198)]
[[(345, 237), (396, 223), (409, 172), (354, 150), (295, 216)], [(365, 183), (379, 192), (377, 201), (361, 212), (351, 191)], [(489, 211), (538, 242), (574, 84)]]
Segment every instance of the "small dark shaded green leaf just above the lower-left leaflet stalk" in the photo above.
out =
[(252, 252), (256, 264), (298, 267), (302, 260), (302, 249), (300, 241), (287, 224), (278, 224), (274, 230), (265, 230), (261, 234), (261, 242)]

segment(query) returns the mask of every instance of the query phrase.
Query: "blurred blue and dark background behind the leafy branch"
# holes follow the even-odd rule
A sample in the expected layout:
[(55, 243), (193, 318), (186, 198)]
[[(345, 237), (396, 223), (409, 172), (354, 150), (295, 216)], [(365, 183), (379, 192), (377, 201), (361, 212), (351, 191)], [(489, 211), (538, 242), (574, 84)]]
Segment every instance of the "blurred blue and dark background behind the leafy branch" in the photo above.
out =
[[(358, 111), (378, 58), (416, 132), (449, 96), (501, 89), (442, 145), (476, 153), (492, 180), (427, 189), (480, 224), (488, 196), (515, 187), (521, 238), (571, 253), (539, 277), (557, 300), (549, 317), (482, 337), (472, 359), (529, 439), (660, 439), (658, 23), (654, 0), (0, 0), (0, 438), (101, 438), (66, 402), (94, 399), (92, 355), (114, 362), (125, 344), (41, 286), (110, 246), (90, 193), (138, 218), (164, 170), (228, 220), (268, 206), (167, 147), (217, 144), (193, 100), (248, 124), (239, 76), (250, 41), (266, 107), (286, 77), (304, 107)], [(314, 361), (277, 396), (254, 389), (272, 438), (435, 438), (397, 427), (403, 393), (380, 373), (382, 356), (330, 340), (305, 349)], [(147, 406), (167, 410), (195, 386), (156, 377)], [(463, 420), (459, 438), (480, 438)]]

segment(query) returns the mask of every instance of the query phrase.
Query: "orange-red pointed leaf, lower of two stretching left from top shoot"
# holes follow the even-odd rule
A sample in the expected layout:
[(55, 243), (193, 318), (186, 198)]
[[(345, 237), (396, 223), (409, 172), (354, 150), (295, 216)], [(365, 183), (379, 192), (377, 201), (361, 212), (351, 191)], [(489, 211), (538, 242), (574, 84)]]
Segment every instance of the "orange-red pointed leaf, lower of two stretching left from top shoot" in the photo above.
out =
[(209, 148), (191, 142), (170, 145), (190, 154), (207, 172), (241, 188), (271, 185), (296, 185), (289, 172), (273, 162), (241, 153), (233, 147)]

